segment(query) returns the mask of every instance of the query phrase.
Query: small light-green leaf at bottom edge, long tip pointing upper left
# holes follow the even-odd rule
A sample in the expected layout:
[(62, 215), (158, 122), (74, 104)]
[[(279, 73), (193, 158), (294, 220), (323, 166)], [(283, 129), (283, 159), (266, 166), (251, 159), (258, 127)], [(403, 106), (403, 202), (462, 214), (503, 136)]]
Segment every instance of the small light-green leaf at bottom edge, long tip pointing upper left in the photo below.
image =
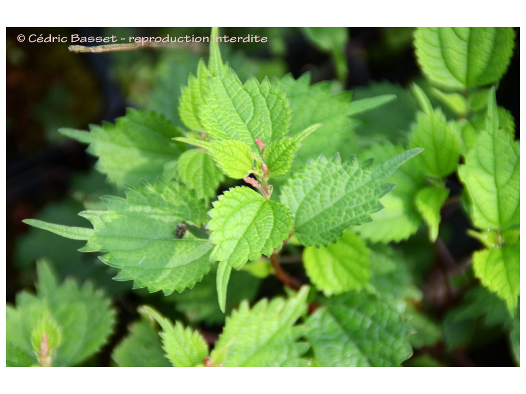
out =
[(144, 313), (152, 316), (163, 328), (159, 336), (163, 340), (163, 350), (174, 367), (197, 367), (208, 356), (205, 339), (191, 328), (185, 328), (180, 322), (171, 324), (157, 310), (149, 306), (141, 307)]

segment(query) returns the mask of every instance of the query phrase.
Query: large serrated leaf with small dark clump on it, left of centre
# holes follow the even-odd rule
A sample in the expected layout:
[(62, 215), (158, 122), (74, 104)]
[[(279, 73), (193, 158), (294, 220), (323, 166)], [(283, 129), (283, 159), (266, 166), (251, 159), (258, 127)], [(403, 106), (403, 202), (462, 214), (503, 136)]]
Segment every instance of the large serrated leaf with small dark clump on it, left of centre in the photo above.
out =
[(210, 269), (206, 239), (187, 231), (174, 234), (185, 221), (199, 226), (207, 221), (207, 206), (177, 182), (146, 182), (128, 186), (126, 199), (103, 198), (107, 211), (83, 211), (93, 225), (82, 252), (105, 252), (100, 260), (120, 269), (117, 281), (134, 281), (134, 288), (165, 294), (193, 287)]

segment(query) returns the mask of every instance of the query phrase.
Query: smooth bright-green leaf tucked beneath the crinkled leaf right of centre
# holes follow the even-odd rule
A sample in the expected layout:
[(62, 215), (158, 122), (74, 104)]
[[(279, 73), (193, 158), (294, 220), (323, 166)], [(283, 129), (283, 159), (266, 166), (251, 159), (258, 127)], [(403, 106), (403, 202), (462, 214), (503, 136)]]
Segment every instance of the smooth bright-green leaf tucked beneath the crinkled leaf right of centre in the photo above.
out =
[(327, 296), (359, 290), (370, 279), (370, 251), (358, 235), (348, 231), (335, 244), (303, 251), (307, 275)]

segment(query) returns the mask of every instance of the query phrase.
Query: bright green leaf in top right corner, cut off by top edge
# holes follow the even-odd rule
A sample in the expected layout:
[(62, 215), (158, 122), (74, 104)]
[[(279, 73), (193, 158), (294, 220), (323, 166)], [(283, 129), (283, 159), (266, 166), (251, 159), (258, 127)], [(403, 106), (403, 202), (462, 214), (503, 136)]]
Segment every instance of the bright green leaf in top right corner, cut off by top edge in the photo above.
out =
[(453, 89), (497, 82), (510, 63), (515, 33), (511, 27), (418, 28), (418, 63), (432, 82)]

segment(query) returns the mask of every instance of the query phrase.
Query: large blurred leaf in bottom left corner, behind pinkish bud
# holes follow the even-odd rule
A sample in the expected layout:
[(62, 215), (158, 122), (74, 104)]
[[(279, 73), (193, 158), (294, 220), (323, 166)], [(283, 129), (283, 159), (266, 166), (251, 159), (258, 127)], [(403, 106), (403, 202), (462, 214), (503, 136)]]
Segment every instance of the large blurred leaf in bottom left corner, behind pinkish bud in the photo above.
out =
[(48, 346), (57, 343), (56, 331), (60, 332), (59, 345), (52, 351), (52, 365), (78, 365), (106, 343), (115, 324), (115, 311), (109, 299), (90, 283), (78, 287), (67, 279), (57, 284), (43, 261), (37, 263), (37, 276), (37, 294), (18, 293), (16, 308), (7, 306), (7, 365), (37, 364), (33, 345), (42, 329), (50, 341)]

